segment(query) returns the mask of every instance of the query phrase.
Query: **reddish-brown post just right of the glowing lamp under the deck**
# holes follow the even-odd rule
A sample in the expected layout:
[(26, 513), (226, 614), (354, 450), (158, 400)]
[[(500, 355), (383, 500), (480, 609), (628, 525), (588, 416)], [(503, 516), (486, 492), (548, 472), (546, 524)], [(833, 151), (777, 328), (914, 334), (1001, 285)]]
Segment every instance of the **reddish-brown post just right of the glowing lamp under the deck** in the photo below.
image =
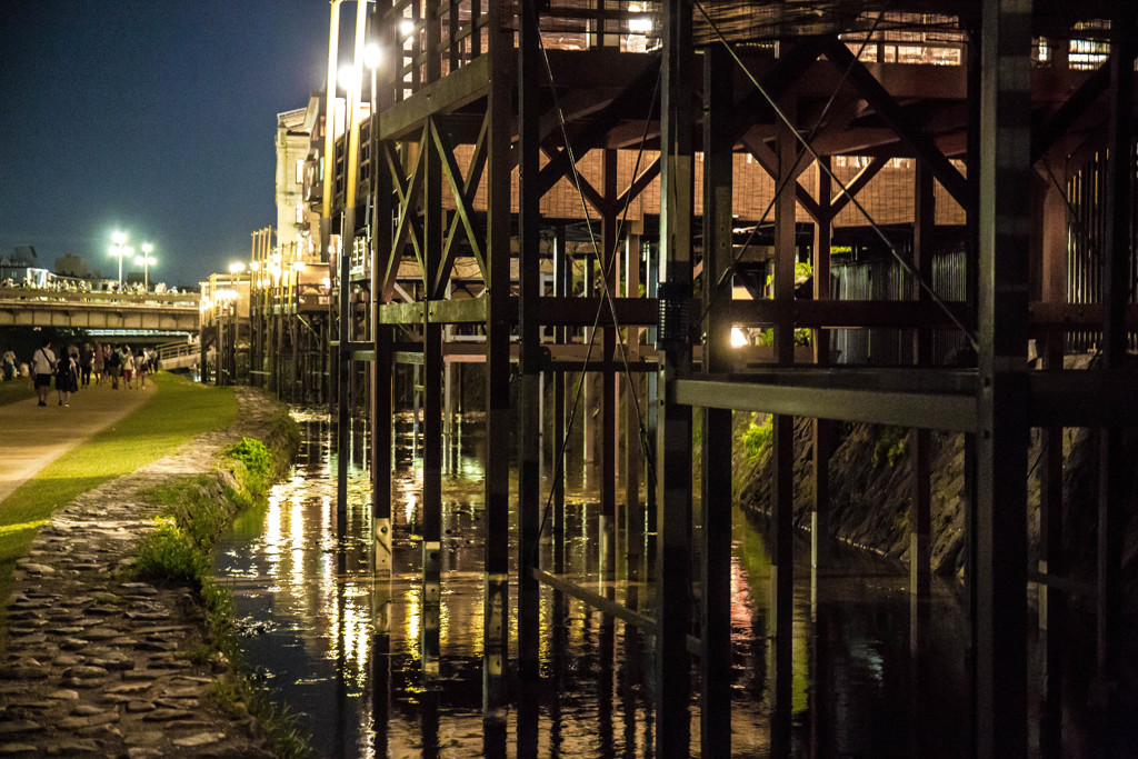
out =
[[(795, 104), (787, 98), (782, 104), (786, 117), (794, 122)], [(797, 175), (798, 141), (791, 127), (778, 121), (775, 125), (775, 151), (778, 155), (778, 187), (775, 199), (774, 299), (790, 312), (794, 299), (795, 211), (793, 178)], [(774, 328), (775, 361), (781, 366), (794, 363), (794, 324), (782, 316)], [(773, 694), (770, 743), (774, 752), (789, 752), (791, 727), (791, 646), (794, 610), (794, 418), (776, 414), (773, 420), (773, 471), (770, 489), (770, 630)]]

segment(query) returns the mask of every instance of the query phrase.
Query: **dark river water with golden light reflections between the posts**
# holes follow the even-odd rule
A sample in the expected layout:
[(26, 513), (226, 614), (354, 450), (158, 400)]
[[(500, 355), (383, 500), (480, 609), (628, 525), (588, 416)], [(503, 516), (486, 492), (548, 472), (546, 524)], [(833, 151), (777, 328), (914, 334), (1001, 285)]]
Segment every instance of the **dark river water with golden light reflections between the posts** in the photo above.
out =
[[(430, 636), (418, 575), (422, 471), (412, 459), (410, 423), (397, 420), (393, 579), (376, 585), (365, 538), (370, 493), (360, 463), (369, 460), (365, 426), (356, 422), (353, 430), (348, 537), (338, 542), (335, 430), (323, 413), (297, 416), (304, 443), (290, 477), (218, 545), (216, 569), (234, 591), (249, 663), (304, 715), (319, 756), (652, 756), (650, 642), (575, 601), (559, 619), (549, 588), (541, 610), (541, 685), (522, 688), (508, 680), (505, 729), (484, 728), (480, 423), (464, 426), (457, 471), (444, 475), (436, 671), (422, 653)], [(569, 472), (567, 501), (578, 508), (568, 510), (566, 566), (578, 581), (603, 592), (597, 509), (587, 492), (596, 478), (586, 487), (585, 473), (580, 467)], [(762, 529), (739, 511), (734, 521), (733, 750), (768, 756), (770, 568)], [(897, 567), (839, 551), (840, 570), (820, 580), (811, 604), (808, 553), (805, 544), (795, 550), (793, 753), (964, 753), (966, 637), (950, 593), (940, 588), (933, 601), (940, 658), (917, 668), (908, 653), (907, 580)], [(543, 566), (550, 567), (549, 542), (544, 551)], [(622, 584), (616, 595), (622, 597)], [(643, 591), (645, 596), (651, 594)], [(516, 633), (513, 587), (510, 599)], [(698, 753), (694, 708), (692, 741)]]

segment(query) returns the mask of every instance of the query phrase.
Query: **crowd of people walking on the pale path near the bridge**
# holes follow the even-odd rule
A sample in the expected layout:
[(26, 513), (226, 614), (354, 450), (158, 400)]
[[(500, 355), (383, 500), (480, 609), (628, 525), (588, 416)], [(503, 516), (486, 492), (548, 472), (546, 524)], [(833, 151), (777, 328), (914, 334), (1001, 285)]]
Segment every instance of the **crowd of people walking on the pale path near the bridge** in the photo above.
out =
[[(10, 353), (11, 350), (8, 350), (3, 356), (5, 374)], [(149, 348), (139, 348), (134, 352), (125, 343), (123, 345), (96, 343), (94, 346), (84, 343), (82, 348), (69, 345), (57, 355), (51, 349), (51, 340), (44, 339), (43, 345), (32, 356), (32, 385), (39, 396), (39, 405), (46, 406), (51, 393), (51, 382), (55, 380), (56, 393), (59, 396), (58, 405), (71, 406), (72, 393), (77, 393), (80, 387), (90, 387), (92, 378), (96, 385), (108, 380), (115, 390), (118, 389), (119, 381), (124, 389), (145, 390), (146, 377), (157, 370), (157, 363), (158, 355), (155, 352)]]

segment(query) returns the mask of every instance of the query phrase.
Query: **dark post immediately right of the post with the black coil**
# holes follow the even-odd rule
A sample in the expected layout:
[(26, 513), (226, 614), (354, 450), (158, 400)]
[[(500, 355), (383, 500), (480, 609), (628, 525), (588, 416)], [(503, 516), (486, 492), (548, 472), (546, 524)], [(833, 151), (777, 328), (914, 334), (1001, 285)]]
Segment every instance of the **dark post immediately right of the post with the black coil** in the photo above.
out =
[[(704, 374), (732, 370), (729, 305), (732, 236), (732, 71), (720, 46), (703, 56), (703, 330)], [(723, 280), (727, 280), (724, 282)], [(725, 296), (716, 297), (720, 287)], [(704, 757), (731, 756), (732, 411), (703, 410), (702, 604), (700, 609), (700, 744)]]

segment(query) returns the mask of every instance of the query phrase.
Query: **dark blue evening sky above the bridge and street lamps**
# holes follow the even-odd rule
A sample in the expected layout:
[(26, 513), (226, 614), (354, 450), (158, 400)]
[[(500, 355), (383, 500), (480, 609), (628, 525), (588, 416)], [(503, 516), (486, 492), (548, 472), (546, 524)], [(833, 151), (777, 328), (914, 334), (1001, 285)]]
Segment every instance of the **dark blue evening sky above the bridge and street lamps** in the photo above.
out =
[(277, 114), (323, 86), (328, 13), (0, 0), (0, 250), (32, 245), (48, 267), (74, 253), (114, 277), (117, 228), (154, 244), (151, 281), (179, 286), (247, 258), (250, 232), (277, 223)]

